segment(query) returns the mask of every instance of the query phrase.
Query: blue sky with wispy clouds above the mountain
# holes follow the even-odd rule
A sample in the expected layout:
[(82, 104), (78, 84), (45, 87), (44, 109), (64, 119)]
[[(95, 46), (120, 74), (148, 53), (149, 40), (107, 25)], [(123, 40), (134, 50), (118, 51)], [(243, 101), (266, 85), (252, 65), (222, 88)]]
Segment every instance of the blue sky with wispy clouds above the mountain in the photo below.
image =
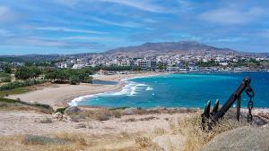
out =
[(269, 52), (268, 10), (266, 0), (0, 0), (0, 55), (180, 40)]

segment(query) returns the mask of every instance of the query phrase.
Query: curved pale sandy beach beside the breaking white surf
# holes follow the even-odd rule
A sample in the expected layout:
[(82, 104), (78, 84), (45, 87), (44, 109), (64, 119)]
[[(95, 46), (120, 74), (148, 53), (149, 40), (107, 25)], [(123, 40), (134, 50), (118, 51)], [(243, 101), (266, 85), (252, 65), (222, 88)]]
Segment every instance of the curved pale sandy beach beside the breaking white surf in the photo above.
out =
[(51, 105), (53, 108), (67, 105), (75, 97), (88, 96), (103, 92), (117, 91), (124, 87), (125, 79), (143, 76), (152, 76), (161, 73), (156, 72), (141, 72), (133, 74), (115, 74), (115, 75), (98, 75), (94, 80), (116, 81), (116, 85), (111, 84), (85, 84), (68, 85), (68, 84), (53, 84), (50, 87), (40, 87), (29, 93), (8, 96), (8, 98), (20, 98), (24, 102), (40, 103)]

